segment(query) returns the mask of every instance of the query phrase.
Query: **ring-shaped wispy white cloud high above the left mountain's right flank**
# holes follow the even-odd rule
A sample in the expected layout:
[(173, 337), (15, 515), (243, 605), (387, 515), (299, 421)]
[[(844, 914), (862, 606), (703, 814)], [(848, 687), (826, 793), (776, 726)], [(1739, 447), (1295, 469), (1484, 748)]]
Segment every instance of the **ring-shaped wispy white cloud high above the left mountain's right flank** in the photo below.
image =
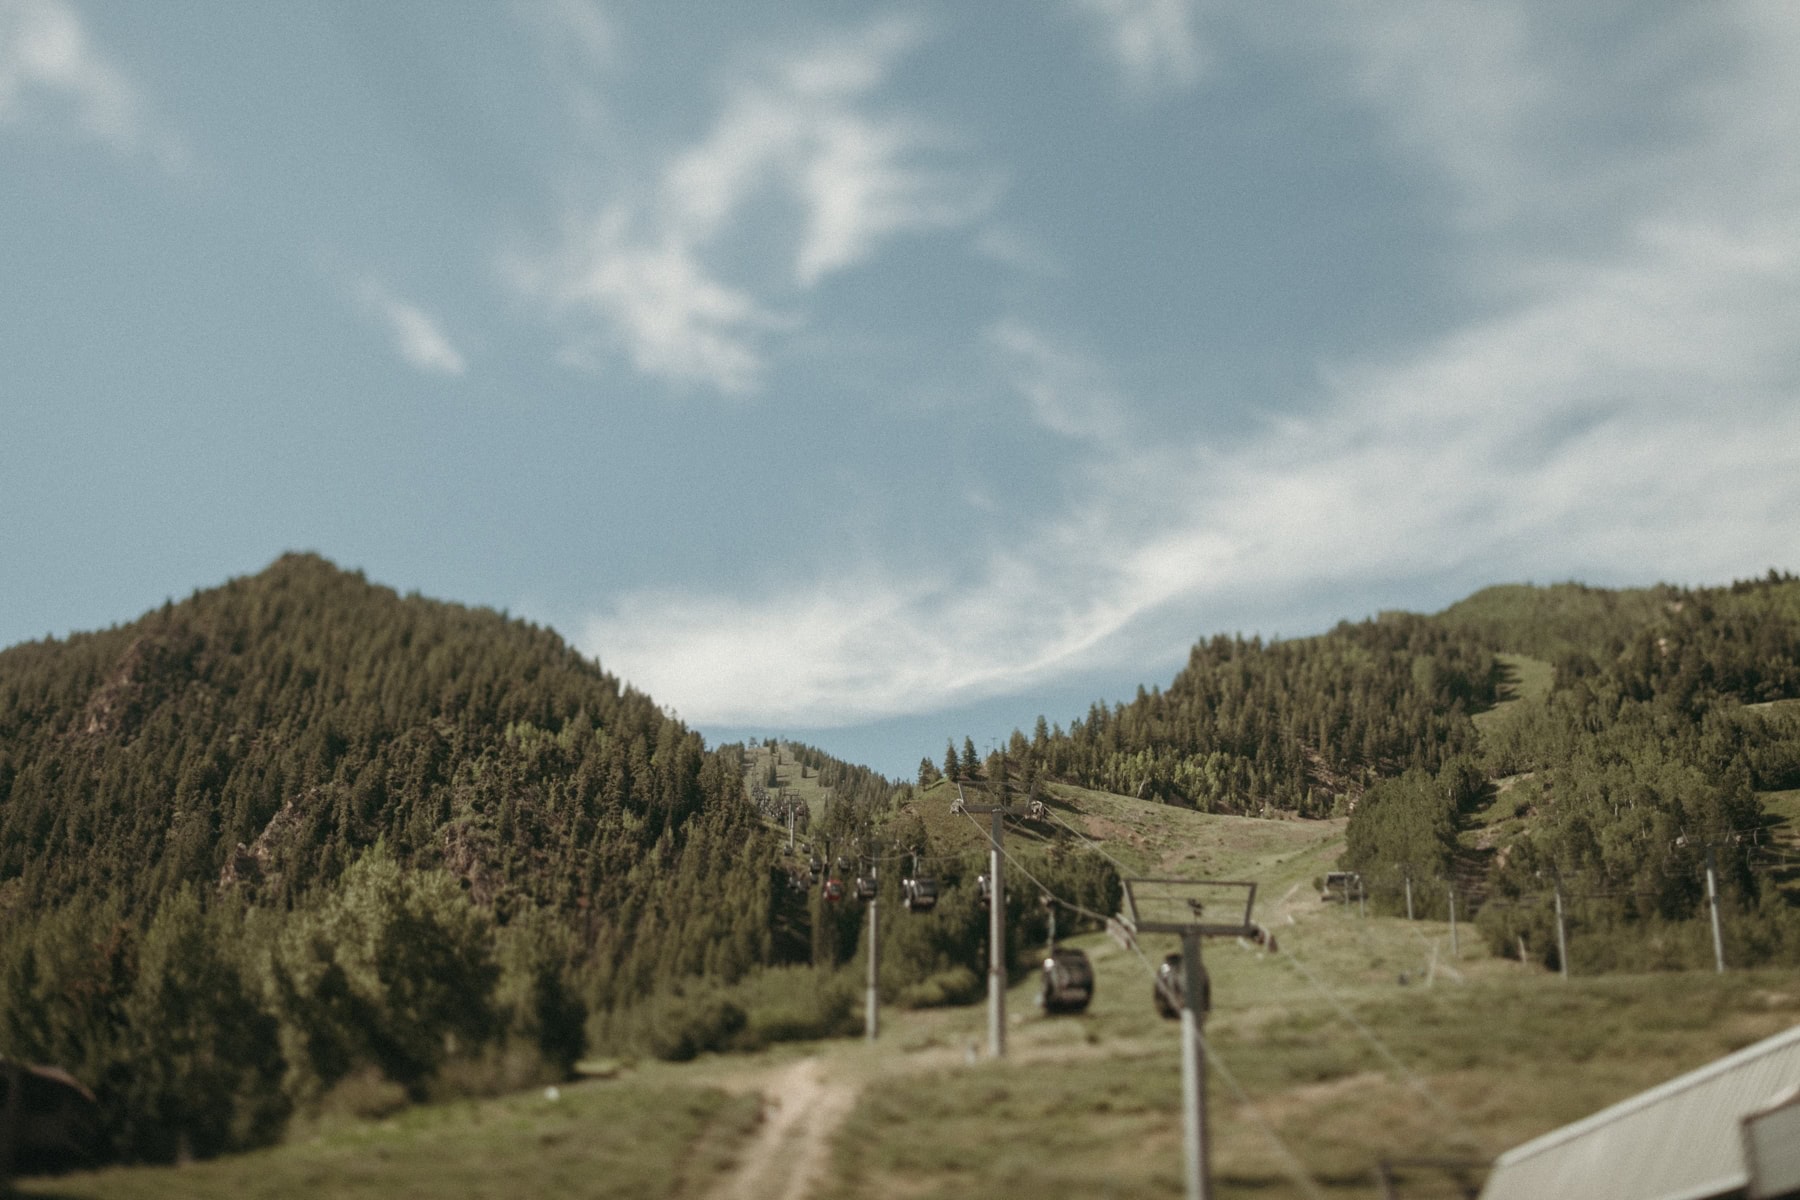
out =
[[(513, 263), (515, 281), (578, 329), (569, 358), (598, 365), (619, 347), (643, 374), (751, 392), (769, 340), (803, 324), (806, 291), (896, 236), (981, 216), (992, 182), (949, 166), (956, 149), (941, 131), (875, 104), (920, 36), (878, 22), (767, 58), (653, 182), (572, 218), (549, 255)], [(758, 230), (778, 246), (779, 275), (725, 246), (763, 198), (799, 218), (797, 232)]]

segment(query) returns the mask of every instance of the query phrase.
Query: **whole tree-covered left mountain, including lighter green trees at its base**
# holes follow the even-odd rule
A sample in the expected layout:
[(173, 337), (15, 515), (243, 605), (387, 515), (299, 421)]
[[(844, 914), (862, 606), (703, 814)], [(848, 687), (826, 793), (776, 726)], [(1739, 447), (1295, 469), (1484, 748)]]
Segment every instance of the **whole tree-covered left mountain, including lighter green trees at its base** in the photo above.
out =
[(605, 1013), (783, 961), (742, 774), (553, 631), (315, 556), (0, 651), (0, 1054), (151, 1157), (364, 1074), (563, 1070)]

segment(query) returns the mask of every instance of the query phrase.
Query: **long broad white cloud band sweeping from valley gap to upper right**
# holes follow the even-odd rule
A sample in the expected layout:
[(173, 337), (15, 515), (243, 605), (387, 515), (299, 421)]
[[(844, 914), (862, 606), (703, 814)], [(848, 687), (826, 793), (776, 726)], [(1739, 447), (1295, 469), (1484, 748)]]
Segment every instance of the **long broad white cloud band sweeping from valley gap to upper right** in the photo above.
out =
[[(1516, 63), (1548, 9), (1492, 5), (1489, 45), (1469, 50), (1465, 5), (1424, 7), (1442, 20), (1397, 31), (1372, 14), (1337, 31), (1336, 52), (1350, 94), (1467, 189), (1471, 210), (1481, 189), (1505, 191), (1467, 232), (1478, 315), (1319, 363), (1312, 416), (1229, 452), (1114, 425), (1129, 398), (1102, 362), (999, 322), (988, 347), (1040, 425), (1112, 430), (1089, 441), (1066, 509), (967, 578), (914, 563), (756, 597), (625, 596), (583, 644), (691, 720), (824, 727), (1168, 660), (1269, 613), (1354, 617), (1337, 597), (1390, 581), (1793, 567), (1800, 173), (1784, 146), (1800, 128), (1800, 20), (1730, 9), (1710, 56), (1678, 72), (1685, 124), (1651, 148), (1589, 133), (1580, 155), (1557, 139), (1534, 149), (1526, 130), (1559, 106), (1598, 130), (1607, 106), (1642, 97), (1584, 85), (1579, 56)], [(1386, 38), (1404, 45), (1372, 49)], [(1379, 86), (1370, 54), (1388, 63)], [(1454, 90), (1440, 56), (1463, 63), (1478, 99), (1420, 115)], [(1584, 173), (1607, 200), (1584, 205), (1579, 228), (1534, 212)]]

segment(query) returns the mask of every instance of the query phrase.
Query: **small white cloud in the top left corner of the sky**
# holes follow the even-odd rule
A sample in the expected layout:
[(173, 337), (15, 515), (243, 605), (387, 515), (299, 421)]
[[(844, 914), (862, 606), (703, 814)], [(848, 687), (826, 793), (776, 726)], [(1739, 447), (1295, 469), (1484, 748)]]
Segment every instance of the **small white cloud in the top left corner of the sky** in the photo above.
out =
[(72, 122), (128, 157), (180, 169), (185, 149), (61, 0), (0, 0), (0, 126)]

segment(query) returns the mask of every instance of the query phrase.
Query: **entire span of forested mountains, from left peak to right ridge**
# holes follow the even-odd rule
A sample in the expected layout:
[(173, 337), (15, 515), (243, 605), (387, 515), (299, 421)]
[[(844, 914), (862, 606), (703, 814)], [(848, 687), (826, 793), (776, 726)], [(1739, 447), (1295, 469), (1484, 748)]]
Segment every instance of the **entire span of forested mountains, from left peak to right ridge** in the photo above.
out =
[[(1359, 873), (1377, 910), (1458, 896), (1494, 954), (1550, 966), (1561, 889), (1582, 972), (1708, 961), (1714, 862), (1733, 964), (1791, 964), (1800, 581), (1503, 587), (1213, 637), (1166, 687), (893, 783), (814, 747), (707, 748), (549, 630), (284, 556), (0, 651), (0, 1054), (92, 1087), (112, 1155), (171, 1160), (581, 1054), (851, 1033), (866, 921), (817, 887), (839, 858), (878, 862), (895, 901), (884, 1000), (974, 1000), (985, 840), (950, 784), (1051, 804), (1019, 829), (1030, 880), (1008, 869), (1013, 946), (1046, 936), (1037, 889), (1111, 912), (1120, 858), (1199, 865), (1219, 815), (1305, 820), (1343, 847), (1312, 865)], [(929, 918), (898, 905), (913, 864)]]

